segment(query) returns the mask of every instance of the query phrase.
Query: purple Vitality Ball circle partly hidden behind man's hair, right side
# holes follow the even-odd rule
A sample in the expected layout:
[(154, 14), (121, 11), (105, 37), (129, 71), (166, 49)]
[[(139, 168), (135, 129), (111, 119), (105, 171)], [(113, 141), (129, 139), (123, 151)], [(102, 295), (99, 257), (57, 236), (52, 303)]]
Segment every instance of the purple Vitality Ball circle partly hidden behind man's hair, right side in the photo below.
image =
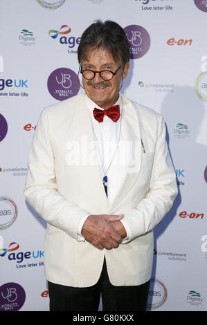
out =
[(129, 25), (124, 28), (129, 41), (131, 59), (143, 57), (150, 48), (150, 35), (145, 28)]

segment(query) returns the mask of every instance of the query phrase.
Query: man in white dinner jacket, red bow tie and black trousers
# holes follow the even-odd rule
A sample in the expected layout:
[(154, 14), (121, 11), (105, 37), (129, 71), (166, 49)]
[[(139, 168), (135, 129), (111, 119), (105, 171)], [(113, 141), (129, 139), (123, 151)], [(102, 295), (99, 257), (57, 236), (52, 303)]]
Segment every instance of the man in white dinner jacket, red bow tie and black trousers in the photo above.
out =
[[(47, 222), (50, 310), (146, 310), (153, 228), (177, 183), (158, 113), (120, 95), (129, 43), (96, 21), (78, 47), (84, 93), (46, 107), (28, 158), (26, 200)], [(112, 106), (112, 107), (111, 107)]]

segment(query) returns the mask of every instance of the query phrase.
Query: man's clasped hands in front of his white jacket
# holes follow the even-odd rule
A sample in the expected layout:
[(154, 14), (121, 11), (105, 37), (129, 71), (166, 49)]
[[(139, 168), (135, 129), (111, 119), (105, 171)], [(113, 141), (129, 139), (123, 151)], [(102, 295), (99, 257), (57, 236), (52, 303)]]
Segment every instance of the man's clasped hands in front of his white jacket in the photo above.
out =
[(118, 248), (127, 235), (123, 223), (120, 222), (122, 218), (123, 214), (91, 214), (84, 222), (82, 236), (100, 250)]

